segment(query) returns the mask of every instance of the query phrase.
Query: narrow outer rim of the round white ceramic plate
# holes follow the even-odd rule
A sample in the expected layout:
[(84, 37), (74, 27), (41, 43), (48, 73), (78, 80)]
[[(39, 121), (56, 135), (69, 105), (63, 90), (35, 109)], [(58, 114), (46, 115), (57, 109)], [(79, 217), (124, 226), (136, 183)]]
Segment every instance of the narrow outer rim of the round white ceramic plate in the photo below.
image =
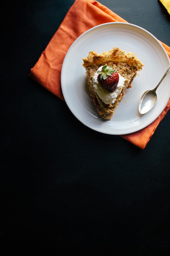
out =
[[(169, 62), (169, 64), (170, 64), (170, 59), (169, 59), (169, 57), (168, 57), (168, 54), (167, 54), (165, 48), (163, 47), (163, 45), (161, 44), (161, 42), (160, 42), (153, 34), (151, 34), (149, 31), (147, 31), (146, 29), (144, 29), (144, 28), (142, 28), (142, 27), (140, 27), (140, 26), (138, 26), (138, 25), (135, 25), (135, 24), (132, 24), (132, 23), (127, 23), (127, 22), (108, 22), (108, 23), (99, 24), (99, 25), (97, 25), (97, 26), (94, 26), (94, 27), (92, 27), (92, 28), (86, 30), (84, 33), (82, 33), (82, 34), (71, 44), (71, 46), (69, 47), (69, 49), (68, 49), (68, 51), (67, 51), (67, 53), (66, 53), (66, 55), (65, 55), (65, 58), (64, 58), (63, 64), (62, 64), (62, 70), (61, 70), (61, 88), (62, 88), (62, 92), (63, 92), (64, 99), (65, 99), (65, 92), (64, 92), (64, 85), (63, 85), (63, 84), (64, 84), (64, 82), (63, 82), (63, 80), (64, 80), (64, 77), (63, 77), (63, 70), (64, 70), (64, 65), (65, 65), (67, 56), (69, 55), (69, 52), (72, 50), (72, 47), (74, 47), (74, 45), (76, 44), (76, 42), (77, 42), (81, 37), (83, 37), (84, 35), (86, 35), (87, 33), (89, 33), (91, 30), (94, 30), (94, 29), (96, 29), (96, 28), (98, 28), (98, 27), (103, 27), (103, 26), (106, 26), (106, 25), (118, 25), (118, 24), (119, 24), (119, 25), (125, 25), (125, 26), (128, 25), (128, 26), (136, 27), (136, 28), (138, 28), (138, 29), (140, 29), (140, 30), (143, 30), (145, 33), (149, 34), (154, 40), (156, 40), (156, 42), (157, 42), (157, 43), (159, 44), (159, 46), (162, 48), (162, 50), (164, 51), (164, 54), (165, 54), (165, 56), (166, 56), (166, 58), (167, 58), (167, 60), (168, 60), (168, 62)], [(168, 99), (168, 100), (169, 100), (169, 99)], [(166, 107), (166, 105), (167, 105), (168, 100), (166, 101), (165, 107)], [(143, 128), (147, 127), (148, 125), (150, 125), (152, 122), (154, 122), (154, 121), (157, 119), (157, 117), (158, 117), (158, 116), (163, 112), (163, 110), (164, 110), (164, 109), (163, 109), (163, 110), (161, 110), (160, 112), (158, 112), (158, 114), (156, 115), (155, 119), (152, 120), (151, 122), (148, 122), (148, 124), (144, 124), (142, 127), (139, 127), (139, 128), (137, 128), (137, 129), (133, 129), (133, 131), (129, 131), (129, 132), (120, 132), (120, 133), (119, 133), (119, 132), (101, 131), (101, 130), (96, 129), (96, 128), (93, 127), (92, 125), (86, 124), (86, 122), (84, 122), (83, 120), (81, 120), (81, 119), (79, 118), (79, 116), (77, 116), (77, 114), (74, 113), (74, 111), (72, 111), (72, 109), (71, 109), (71, 107), (70, 107), (70, 105), (69, 105), (69, 103), (67, 102), (66, 99), (65, 99), (65, 102), (66, 102), (68, 108), (70, 109), (70, 111), (72, 112), (72, 114), (73, 114), (81, 123), (83, 123), (85, 126), (89, 127), (90, 129), (92, 129), (92, 130), (94, 130), (94, 131), (97, 131), (97, 132), (100, 132), (100, 133), (104, 133), (104, 134), (110, 134), (110, 135), (125, 135), (125, 134), (131, 134), (131, 133), (138, 132), (138, 131), (142, 130)], [(165, 107), (164, 107), (164, 108), (165, 108)], [(108, 121), (108, 120), (107, 120), (107, 121)]]

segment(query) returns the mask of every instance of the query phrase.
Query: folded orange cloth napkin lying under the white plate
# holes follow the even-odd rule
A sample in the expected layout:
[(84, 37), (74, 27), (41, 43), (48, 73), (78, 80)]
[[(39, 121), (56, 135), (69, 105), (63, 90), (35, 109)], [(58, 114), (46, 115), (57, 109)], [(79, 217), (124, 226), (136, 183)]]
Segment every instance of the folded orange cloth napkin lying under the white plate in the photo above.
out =
[[(61, 89), (61, 68), (64, 57), (71, 44), (88, 29), (107, 22), (126, 22), (110, 9), (93, 0), (76, 0), (67, 12), (63, 22), (31, 69), (30, 77), (47, 90), (64, 100)], [(170, 47), (163, 44), (170, 58)], [(114, 47), (114, 46), (113, 46)], [(160, 116), (144, 129), (121, 135), (137, 147), (144, 149), (170, 108), (170, 100)]]

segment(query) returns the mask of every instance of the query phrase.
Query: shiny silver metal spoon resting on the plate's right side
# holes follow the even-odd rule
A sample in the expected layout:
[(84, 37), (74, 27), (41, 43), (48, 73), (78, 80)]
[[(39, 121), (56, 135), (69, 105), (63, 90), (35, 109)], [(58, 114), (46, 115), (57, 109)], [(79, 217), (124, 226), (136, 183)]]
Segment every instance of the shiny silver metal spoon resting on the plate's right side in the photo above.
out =
[(143, 93), (139, 101), (139, 112), (141, 114), (147, 113), (155, 105), (157, 100), (156, 89), (162, 83), (162, 81), (164, 80), (164, 78), (166, 77), (169, 71), (170, 71), (170, 65), (167, 71), (165, 72), (164, 76), (162, 77), (161, 81), (159, 82), (159, 84), (154, 89), (147, 90)]

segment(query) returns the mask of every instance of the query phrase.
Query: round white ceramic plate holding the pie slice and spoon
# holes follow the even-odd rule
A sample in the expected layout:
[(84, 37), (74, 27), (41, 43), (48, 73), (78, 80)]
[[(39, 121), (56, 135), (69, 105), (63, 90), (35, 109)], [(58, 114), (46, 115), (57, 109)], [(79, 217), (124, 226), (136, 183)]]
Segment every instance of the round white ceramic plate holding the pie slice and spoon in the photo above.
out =
[[(144, 67), (126, 90), (110, 121), (101, 118), (90, 99), (82, 58), (89, 51), (101, 54), (114, 47), (133, 52)], [(129, 134), (152, 123), (164, 110), (170, 97), (170, 73), (157, 89), (157, 102), (152, 110), (141, 115), (138, 104), (141, 95), (153, 89), (169, 66), (168, 55), (160, 42), (147, 30), (129, 23), (113, 22), (96, 26), (78, 37), (69, 48), (62, 66), (61, 84), (65, 101), (84, 125), (106, 134)]]

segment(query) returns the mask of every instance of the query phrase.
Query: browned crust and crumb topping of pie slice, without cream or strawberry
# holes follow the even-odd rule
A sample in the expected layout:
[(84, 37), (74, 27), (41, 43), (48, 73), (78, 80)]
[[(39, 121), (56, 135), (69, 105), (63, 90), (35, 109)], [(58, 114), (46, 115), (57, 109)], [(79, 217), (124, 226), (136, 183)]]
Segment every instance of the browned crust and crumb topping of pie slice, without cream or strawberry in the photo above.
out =
[[(124, 97), (125, 90), (132, 87), (132, 81), (137, 76), (137, 71), (140, 71), (144, 64), (135, 56), (134, 53), (128, 52), (125, 54), (125, 51), (120, 50), (117, 47), (114, 47), (110, 51), (103, 52), (102, 54), (90, 51), (87, 58), (83, 58), (82, 60), (82, 65), (86, 69), (87, 83), (91, 99), (96, 106), (98, 113), (104, 119), (110, 120), (118, 103)], [(93, 89), (93, 76), (98, 68), (105, 64), (107, 64), (107, 66), (111, 66), (126, 79), (122, 91), (118, 94), (113, 104), (105, 104)]]

